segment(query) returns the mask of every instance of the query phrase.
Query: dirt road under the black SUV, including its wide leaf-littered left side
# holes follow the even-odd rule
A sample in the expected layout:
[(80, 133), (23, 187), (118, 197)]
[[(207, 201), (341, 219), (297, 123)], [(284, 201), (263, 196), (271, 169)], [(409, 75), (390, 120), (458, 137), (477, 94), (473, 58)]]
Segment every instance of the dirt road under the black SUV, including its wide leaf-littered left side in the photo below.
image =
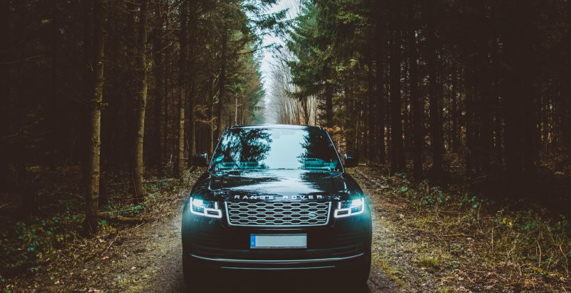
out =
[[(15, 282), (21, 289), (17, 292), (192, 292), (182, 278), (180, 221), (186, 194), (180, 191), (166, 196), (164, 207), (154, 216), (160, 217), (158, 220), (95, 237), (93, 242), (103, 246), (103, 252), (52, 262), (34, 276), (22, 276)], [(377, 207), (380, 203), (372, 205), (373, 266), (363, 287), (343, 287), (343, 280), (314, 278), (313, 274), (295, 279), (286, 274), (213, 276), (204, 282), (212, 283), (212, 292), (398, 292), (399, 285), (382, 273), (383, 268), (386, 271), (382, 267), (386, 252), (379, 248), (390, 240), (385, 238), (393, 236), (380, 227), (382, 217), (375, 212), (381, 210)], [(326, 283), (330, 285), (325, 287)]]

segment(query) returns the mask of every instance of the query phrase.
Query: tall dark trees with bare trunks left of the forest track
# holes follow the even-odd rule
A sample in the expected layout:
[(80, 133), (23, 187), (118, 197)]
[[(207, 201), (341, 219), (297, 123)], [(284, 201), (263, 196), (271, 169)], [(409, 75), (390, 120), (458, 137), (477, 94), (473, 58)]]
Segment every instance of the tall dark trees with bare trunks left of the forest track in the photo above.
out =
[(182, 176), (224, 127), (262, 119), (274, 2), (0, 0), (1, 191), (33, 214), (31, 168), (80, 165), (93, 232), (107, 174), (129, 174), (134, 203), (146, 168)]

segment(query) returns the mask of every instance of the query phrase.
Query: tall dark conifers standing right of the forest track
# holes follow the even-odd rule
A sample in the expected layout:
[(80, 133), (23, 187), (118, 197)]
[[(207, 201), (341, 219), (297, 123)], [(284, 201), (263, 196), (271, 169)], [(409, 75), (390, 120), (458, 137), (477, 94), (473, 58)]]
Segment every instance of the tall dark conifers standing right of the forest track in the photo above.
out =
[(541, 155), (568, 156), (571, 1), (300, 5), (288, 95), (317, 99), (346, 152), (435, 178), (456, 155), (467, 175), (516, 181)]

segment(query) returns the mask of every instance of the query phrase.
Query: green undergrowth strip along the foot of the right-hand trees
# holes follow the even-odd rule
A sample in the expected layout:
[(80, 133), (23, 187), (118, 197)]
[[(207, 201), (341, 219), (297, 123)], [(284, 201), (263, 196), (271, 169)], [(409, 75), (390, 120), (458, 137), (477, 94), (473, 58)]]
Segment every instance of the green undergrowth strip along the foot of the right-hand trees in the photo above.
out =
[(519, 276), (559, 281), (569, 278), (571, 237), (565, 216), (554, 218), (540, 208), (498, 209), (489, 198), (460, 193), (464, 189), (443, 189), (429, 180), (414, 184), (401, 174), (387, 180), (397, 183), (393, 194), (419, 215), (440, 217), (441, 211), (457, 214), (449, 218), (453, 224), (446, 225), (446, 231), (482, 239), (485, 251), (481, 262), (486, 266), (510, 269)]

